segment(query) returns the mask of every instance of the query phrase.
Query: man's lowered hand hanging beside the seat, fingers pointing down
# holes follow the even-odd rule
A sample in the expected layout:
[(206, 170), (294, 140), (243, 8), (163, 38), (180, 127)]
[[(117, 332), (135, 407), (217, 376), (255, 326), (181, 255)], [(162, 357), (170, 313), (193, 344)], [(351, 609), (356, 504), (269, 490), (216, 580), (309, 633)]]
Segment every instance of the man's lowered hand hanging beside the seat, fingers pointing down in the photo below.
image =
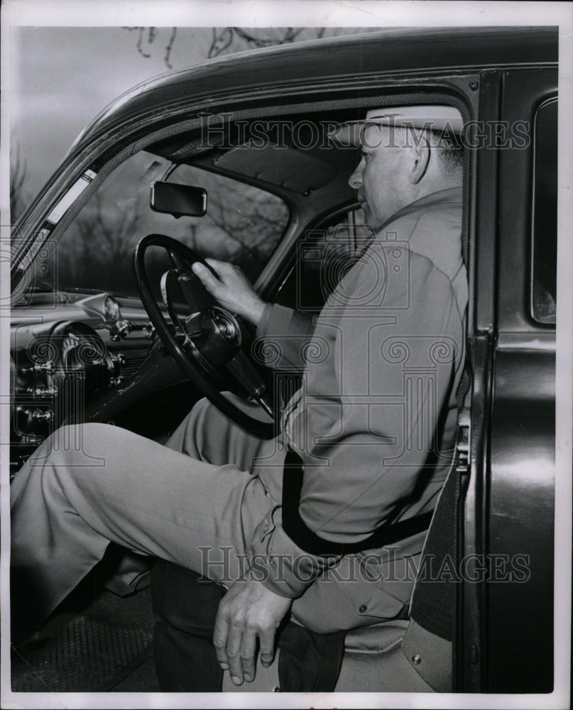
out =
[(260, 581), (239, 579), (219, 603), (213, 632), (217, 660), (229, 669), (231, 680), (250, 683), (256, 672), (256, 642), (263, 666), (275, 656), (275, 632), (293, 603), (270, 591)]

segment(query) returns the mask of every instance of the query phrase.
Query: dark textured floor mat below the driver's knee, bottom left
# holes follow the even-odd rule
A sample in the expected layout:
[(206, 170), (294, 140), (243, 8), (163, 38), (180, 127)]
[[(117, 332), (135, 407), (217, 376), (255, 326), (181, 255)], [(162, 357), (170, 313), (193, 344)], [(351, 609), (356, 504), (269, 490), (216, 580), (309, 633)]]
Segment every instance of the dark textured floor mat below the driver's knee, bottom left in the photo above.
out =
[(151, 657), (153, 634), (87, 617), (12, 655), (13, 692), (105, 692)]

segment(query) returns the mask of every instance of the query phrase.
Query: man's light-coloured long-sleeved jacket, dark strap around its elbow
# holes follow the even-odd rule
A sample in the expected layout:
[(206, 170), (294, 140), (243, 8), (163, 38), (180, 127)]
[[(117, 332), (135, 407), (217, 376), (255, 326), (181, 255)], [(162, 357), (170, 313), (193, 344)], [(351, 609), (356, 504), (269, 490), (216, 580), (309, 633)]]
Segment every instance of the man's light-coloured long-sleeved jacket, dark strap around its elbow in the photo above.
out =
[[(465, 359), (461, 231), (462, 191), (435, 192), (378, 231), (314, 322), (266, 307), (261, 350), (274, 366), (305, 366), (285, 431), (253, 465), (277, 503), (251, 541), (269, 558), (263, 583), (275, 593), (295, 599), (337, 564), (305, 554), (283, 530), (285, 443), (304, 464), (300, 516), (324, 540), (359, 542), (434, 508), (452, 464)], [(398, 559), (419, 553), (423, 538), (403, 541)], [(404, 602), (407, 587), (396, 589)]]

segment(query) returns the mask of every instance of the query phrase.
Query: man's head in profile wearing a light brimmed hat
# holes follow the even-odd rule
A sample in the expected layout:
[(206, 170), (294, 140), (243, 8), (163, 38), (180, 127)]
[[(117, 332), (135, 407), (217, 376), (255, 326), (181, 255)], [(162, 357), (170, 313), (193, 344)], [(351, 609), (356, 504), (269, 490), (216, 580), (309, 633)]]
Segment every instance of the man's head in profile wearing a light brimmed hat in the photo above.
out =
[(461, 127), (457, 109), (435, 106), (373, 109), (349, 124), (344, 137), (360, 148), (349, 185), (366, 224), (377, 229), (410, 202), (462, 185)]

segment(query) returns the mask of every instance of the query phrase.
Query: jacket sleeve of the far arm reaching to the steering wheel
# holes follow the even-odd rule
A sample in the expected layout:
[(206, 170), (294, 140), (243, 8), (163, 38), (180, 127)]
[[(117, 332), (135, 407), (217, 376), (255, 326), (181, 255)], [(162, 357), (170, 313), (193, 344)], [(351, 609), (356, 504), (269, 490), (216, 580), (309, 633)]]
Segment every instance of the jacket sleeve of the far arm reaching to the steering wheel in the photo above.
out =
[(312, 315), (267, 303), (256, 329), (256, 360), (267, 367), (302, 371), (314, 328)]

